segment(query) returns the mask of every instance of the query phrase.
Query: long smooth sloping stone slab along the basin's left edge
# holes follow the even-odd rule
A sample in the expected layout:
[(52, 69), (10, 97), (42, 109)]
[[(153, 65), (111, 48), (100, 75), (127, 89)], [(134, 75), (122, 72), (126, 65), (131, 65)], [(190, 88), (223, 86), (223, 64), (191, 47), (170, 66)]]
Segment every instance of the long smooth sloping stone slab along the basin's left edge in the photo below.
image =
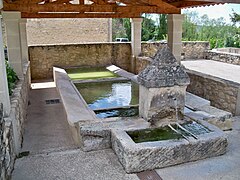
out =
[(66, 111), (68, 123), (71, 126), (79, 122), (91, 121), (97, 119), (93, 110), (91, 110), (81, 94), (78, 92), (66, 71), (54, 67), (54, 82), (60, 94), (64, 109)]

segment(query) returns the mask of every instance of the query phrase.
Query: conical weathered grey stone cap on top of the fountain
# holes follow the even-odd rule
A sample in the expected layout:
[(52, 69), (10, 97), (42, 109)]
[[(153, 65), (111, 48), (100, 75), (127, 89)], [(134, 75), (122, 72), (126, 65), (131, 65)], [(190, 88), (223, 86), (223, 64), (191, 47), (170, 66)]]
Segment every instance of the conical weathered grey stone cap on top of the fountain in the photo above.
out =
[(139, 73), (138, 81), (147, 88), (186, 86), (190, 83), (184, 67), (168, 47), (158, 50), (152, 63)]

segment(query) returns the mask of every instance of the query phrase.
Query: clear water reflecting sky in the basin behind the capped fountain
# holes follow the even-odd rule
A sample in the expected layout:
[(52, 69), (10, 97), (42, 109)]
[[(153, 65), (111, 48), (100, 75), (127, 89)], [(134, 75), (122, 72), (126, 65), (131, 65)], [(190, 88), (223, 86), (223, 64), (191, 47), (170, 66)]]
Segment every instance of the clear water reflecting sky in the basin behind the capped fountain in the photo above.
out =
[[(138, 104), (138, 85), (131, 81), (79, 83), (75, 86), (92, 110)], [(100, 118), (115, 117), (117, 114), (124, 114), (124, 110), (129, 111), (127, 109), (101, 111), (97, 112), (97, 116)], [(125, 114), (138, 114), (138, 111)]]

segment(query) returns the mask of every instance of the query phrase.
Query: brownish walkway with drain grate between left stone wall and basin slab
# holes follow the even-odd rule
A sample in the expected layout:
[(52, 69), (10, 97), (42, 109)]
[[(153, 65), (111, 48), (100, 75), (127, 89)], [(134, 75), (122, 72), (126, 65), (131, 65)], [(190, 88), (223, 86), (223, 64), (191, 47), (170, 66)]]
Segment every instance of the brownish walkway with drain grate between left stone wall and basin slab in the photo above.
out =
[(60, 97), (56, 88), (30, 91), (30, 105), (22, 151), (36, 154), (76, 148), (68, 129), (62, 104), (46, 104), (45, 102), (45, 100), (57, 98)]

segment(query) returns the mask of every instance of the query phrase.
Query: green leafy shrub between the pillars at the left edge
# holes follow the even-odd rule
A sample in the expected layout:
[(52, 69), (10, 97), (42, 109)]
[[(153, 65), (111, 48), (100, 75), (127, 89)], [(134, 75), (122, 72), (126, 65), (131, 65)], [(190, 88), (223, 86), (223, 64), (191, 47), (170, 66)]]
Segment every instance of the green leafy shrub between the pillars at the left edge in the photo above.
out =
[(18, 81), (17, 74), (14, 72), (13, 68), (6, 61), (6, 71), (7, 71), (7, 80), (8, 80), (8, 91), (9, 95), (12, 95), (15, 84)]

